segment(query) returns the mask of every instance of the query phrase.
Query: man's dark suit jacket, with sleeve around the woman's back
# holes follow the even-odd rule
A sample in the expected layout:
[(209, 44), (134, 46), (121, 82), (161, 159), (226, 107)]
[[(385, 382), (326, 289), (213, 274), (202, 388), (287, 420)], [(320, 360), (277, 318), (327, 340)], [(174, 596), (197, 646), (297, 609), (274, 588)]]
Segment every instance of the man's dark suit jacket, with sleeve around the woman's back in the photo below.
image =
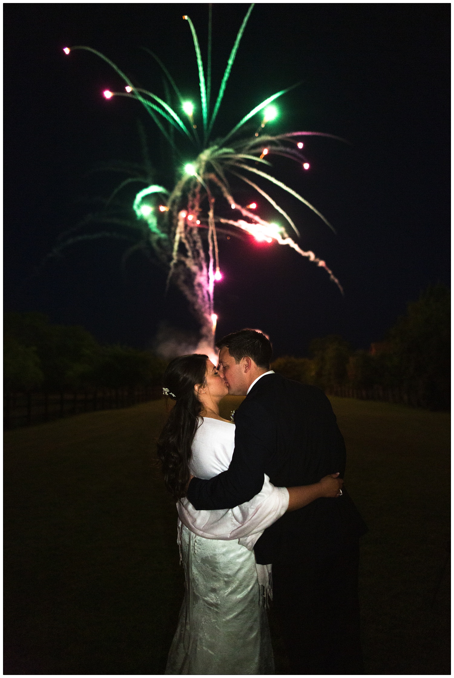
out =
[[(232, 509), (262, 490), (264, 473), (280, 487), (310, 485), (329, 473), (344, 477), (346, 450), (331, 403), (315, 386), (280, 374), (260, 378), (235, 414), (235, 449), (227, 471), (194, 478), (188, 500), (197, 510)], [(286, 513), (255, 544), (257, 563), (333, 551), (367, 530), (352, 500), (317, 499)]]

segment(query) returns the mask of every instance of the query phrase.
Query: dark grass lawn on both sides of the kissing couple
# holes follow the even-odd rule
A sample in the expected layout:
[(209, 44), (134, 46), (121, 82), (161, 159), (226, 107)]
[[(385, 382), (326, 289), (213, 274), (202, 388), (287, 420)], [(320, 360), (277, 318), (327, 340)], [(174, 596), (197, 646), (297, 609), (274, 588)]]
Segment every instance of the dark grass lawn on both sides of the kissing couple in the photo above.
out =
[[(449, 416), (332, 402), (369, 525), (367, 673), (450, 673)], [(163, 672), (184, 590), (176, 507), (153, 462), (164, 417), (155, 401), (5, 433), (6, 674)]]

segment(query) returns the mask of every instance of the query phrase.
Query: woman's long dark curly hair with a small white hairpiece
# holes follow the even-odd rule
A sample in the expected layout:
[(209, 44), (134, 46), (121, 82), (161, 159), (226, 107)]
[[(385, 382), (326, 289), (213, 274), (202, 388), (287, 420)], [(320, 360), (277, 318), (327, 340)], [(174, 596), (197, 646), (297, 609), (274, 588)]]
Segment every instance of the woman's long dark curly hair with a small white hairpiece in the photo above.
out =
[(203, 407), (194, 386), (205, 384), (207, 359), (200, 353), (182, 355), (169, 363), (163, 376), (164, 388), (176, 403), (161, 431), (157, 449), (165, 486), (177, 500), (185, 496), (190, 476), (191, 445)]

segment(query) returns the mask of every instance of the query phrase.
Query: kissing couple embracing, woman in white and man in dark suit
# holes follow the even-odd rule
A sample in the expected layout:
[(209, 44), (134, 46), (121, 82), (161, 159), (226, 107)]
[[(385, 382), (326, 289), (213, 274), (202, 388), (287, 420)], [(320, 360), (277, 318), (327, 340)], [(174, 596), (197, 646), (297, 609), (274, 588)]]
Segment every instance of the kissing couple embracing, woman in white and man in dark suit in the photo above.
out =
[[(274, 673), (272, 597), (289, 673), (361, 674), (358, 540), (367, 528), (343, 488), (331, 403), (270, 370), (260, 332), (218, 346), (218, 368), (183, 356), (163, 380), (176, 402), (158, 455), (186, 576), (165, 673)], [(234, 424), (219, 414), (227, 394), (246, 396)]]

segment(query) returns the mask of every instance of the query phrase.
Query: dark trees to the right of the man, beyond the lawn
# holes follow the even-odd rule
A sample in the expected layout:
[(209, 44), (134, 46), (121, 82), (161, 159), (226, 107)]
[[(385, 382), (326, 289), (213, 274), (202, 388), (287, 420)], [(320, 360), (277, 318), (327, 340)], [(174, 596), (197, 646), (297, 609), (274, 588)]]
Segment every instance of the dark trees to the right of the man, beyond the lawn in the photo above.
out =
[(407, 393), (430, 410), (445, 410), (451, 394), (450, 336), (450, 291), (430, 285), (369, 351), (354, 351), (341, 336), (330, 335), (311, 342), (310, 358), (281, 357), (272, 369), (327, 393), (378, 386)]

